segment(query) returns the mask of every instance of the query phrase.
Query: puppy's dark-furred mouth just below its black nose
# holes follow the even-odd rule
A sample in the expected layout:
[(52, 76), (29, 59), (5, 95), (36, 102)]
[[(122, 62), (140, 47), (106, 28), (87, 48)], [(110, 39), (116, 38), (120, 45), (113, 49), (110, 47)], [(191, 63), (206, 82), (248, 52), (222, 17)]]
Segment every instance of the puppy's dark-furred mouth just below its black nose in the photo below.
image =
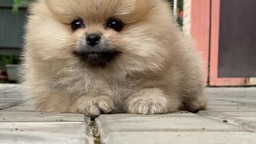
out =
[(102, 52), (74, 52), (75, 56), (89, 64), (90, 67), (106, 67), (108, 63), (116, 59), (118, 51), (102, 51)]

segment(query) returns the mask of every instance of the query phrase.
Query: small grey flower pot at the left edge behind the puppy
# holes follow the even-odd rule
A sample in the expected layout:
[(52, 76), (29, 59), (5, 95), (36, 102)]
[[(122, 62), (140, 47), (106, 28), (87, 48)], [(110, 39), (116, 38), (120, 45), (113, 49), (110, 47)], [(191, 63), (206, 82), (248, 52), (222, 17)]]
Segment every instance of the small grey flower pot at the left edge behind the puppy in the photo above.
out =
[(18, 75), (20, 66), (19, 65), (6, 65), (7, 76), (9, 81), (19, 81), (20, 76)]

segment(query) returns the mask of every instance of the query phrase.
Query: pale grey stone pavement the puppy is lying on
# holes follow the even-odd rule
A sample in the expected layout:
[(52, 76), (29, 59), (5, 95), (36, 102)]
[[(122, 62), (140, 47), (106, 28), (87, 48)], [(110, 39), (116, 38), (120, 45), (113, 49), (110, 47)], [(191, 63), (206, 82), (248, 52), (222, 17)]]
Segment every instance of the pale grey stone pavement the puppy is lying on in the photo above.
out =
[(256, 143), (256, 87), (207, 88), (197, 114), (40, 113), (22, 103), (21, 85), (0, 84), (0, 143)]

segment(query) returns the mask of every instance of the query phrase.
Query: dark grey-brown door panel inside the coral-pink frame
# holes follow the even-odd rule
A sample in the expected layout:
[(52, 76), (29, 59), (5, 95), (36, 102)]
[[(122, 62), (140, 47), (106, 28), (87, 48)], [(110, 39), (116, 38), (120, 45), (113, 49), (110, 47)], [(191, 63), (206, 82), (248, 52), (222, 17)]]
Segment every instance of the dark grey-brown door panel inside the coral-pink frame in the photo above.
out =
[(256, 1), (220, 1), (218, 77), (256, 77)]

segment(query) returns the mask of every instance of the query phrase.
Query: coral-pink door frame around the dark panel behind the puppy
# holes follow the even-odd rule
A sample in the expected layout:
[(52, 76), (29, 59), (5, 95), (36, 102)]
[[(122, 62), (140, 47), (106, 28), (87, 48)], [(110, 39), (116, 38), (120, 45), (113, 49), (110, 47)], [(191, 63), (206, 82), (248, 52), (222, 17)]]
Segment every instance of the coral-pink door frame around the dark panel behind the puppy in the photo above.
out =
[(219, 24), (220, 0), (197, 0), (191, 3), (191, 35), (198, 44), (198, 51), (205, 61), (209, 86), (247, 85), (248, 78), (219, 78)]

